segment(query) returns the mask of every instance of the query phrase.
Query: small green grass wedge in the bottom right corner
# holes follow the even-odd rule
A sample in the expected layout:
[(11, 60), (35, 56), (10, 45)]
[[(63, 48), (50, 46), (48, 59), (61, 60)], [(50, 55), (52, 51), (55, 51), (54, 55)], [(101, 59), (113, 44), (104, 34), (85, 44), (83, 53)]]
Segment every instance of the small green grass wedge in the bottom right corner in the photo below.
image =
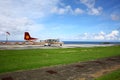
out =
[(95, 80), (120, 80), (120, 69), (101, 76)]

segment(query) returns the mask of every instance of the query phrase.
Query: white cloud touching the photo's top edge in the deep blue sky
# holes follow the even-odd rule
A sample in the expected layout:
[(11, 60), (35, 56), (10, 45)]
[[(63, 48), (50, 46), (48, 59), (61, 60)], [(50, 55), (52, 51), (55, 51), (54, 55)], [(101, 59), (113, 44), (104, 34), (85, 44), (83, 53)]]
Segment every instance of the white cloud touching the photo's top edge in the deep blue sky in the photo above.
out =
[(102, 13), (102, 7), (95, 7), (96, 0), (80, 0), (82, 4), (87, 7), (87, 13), (89, 15), (100, 15)]

